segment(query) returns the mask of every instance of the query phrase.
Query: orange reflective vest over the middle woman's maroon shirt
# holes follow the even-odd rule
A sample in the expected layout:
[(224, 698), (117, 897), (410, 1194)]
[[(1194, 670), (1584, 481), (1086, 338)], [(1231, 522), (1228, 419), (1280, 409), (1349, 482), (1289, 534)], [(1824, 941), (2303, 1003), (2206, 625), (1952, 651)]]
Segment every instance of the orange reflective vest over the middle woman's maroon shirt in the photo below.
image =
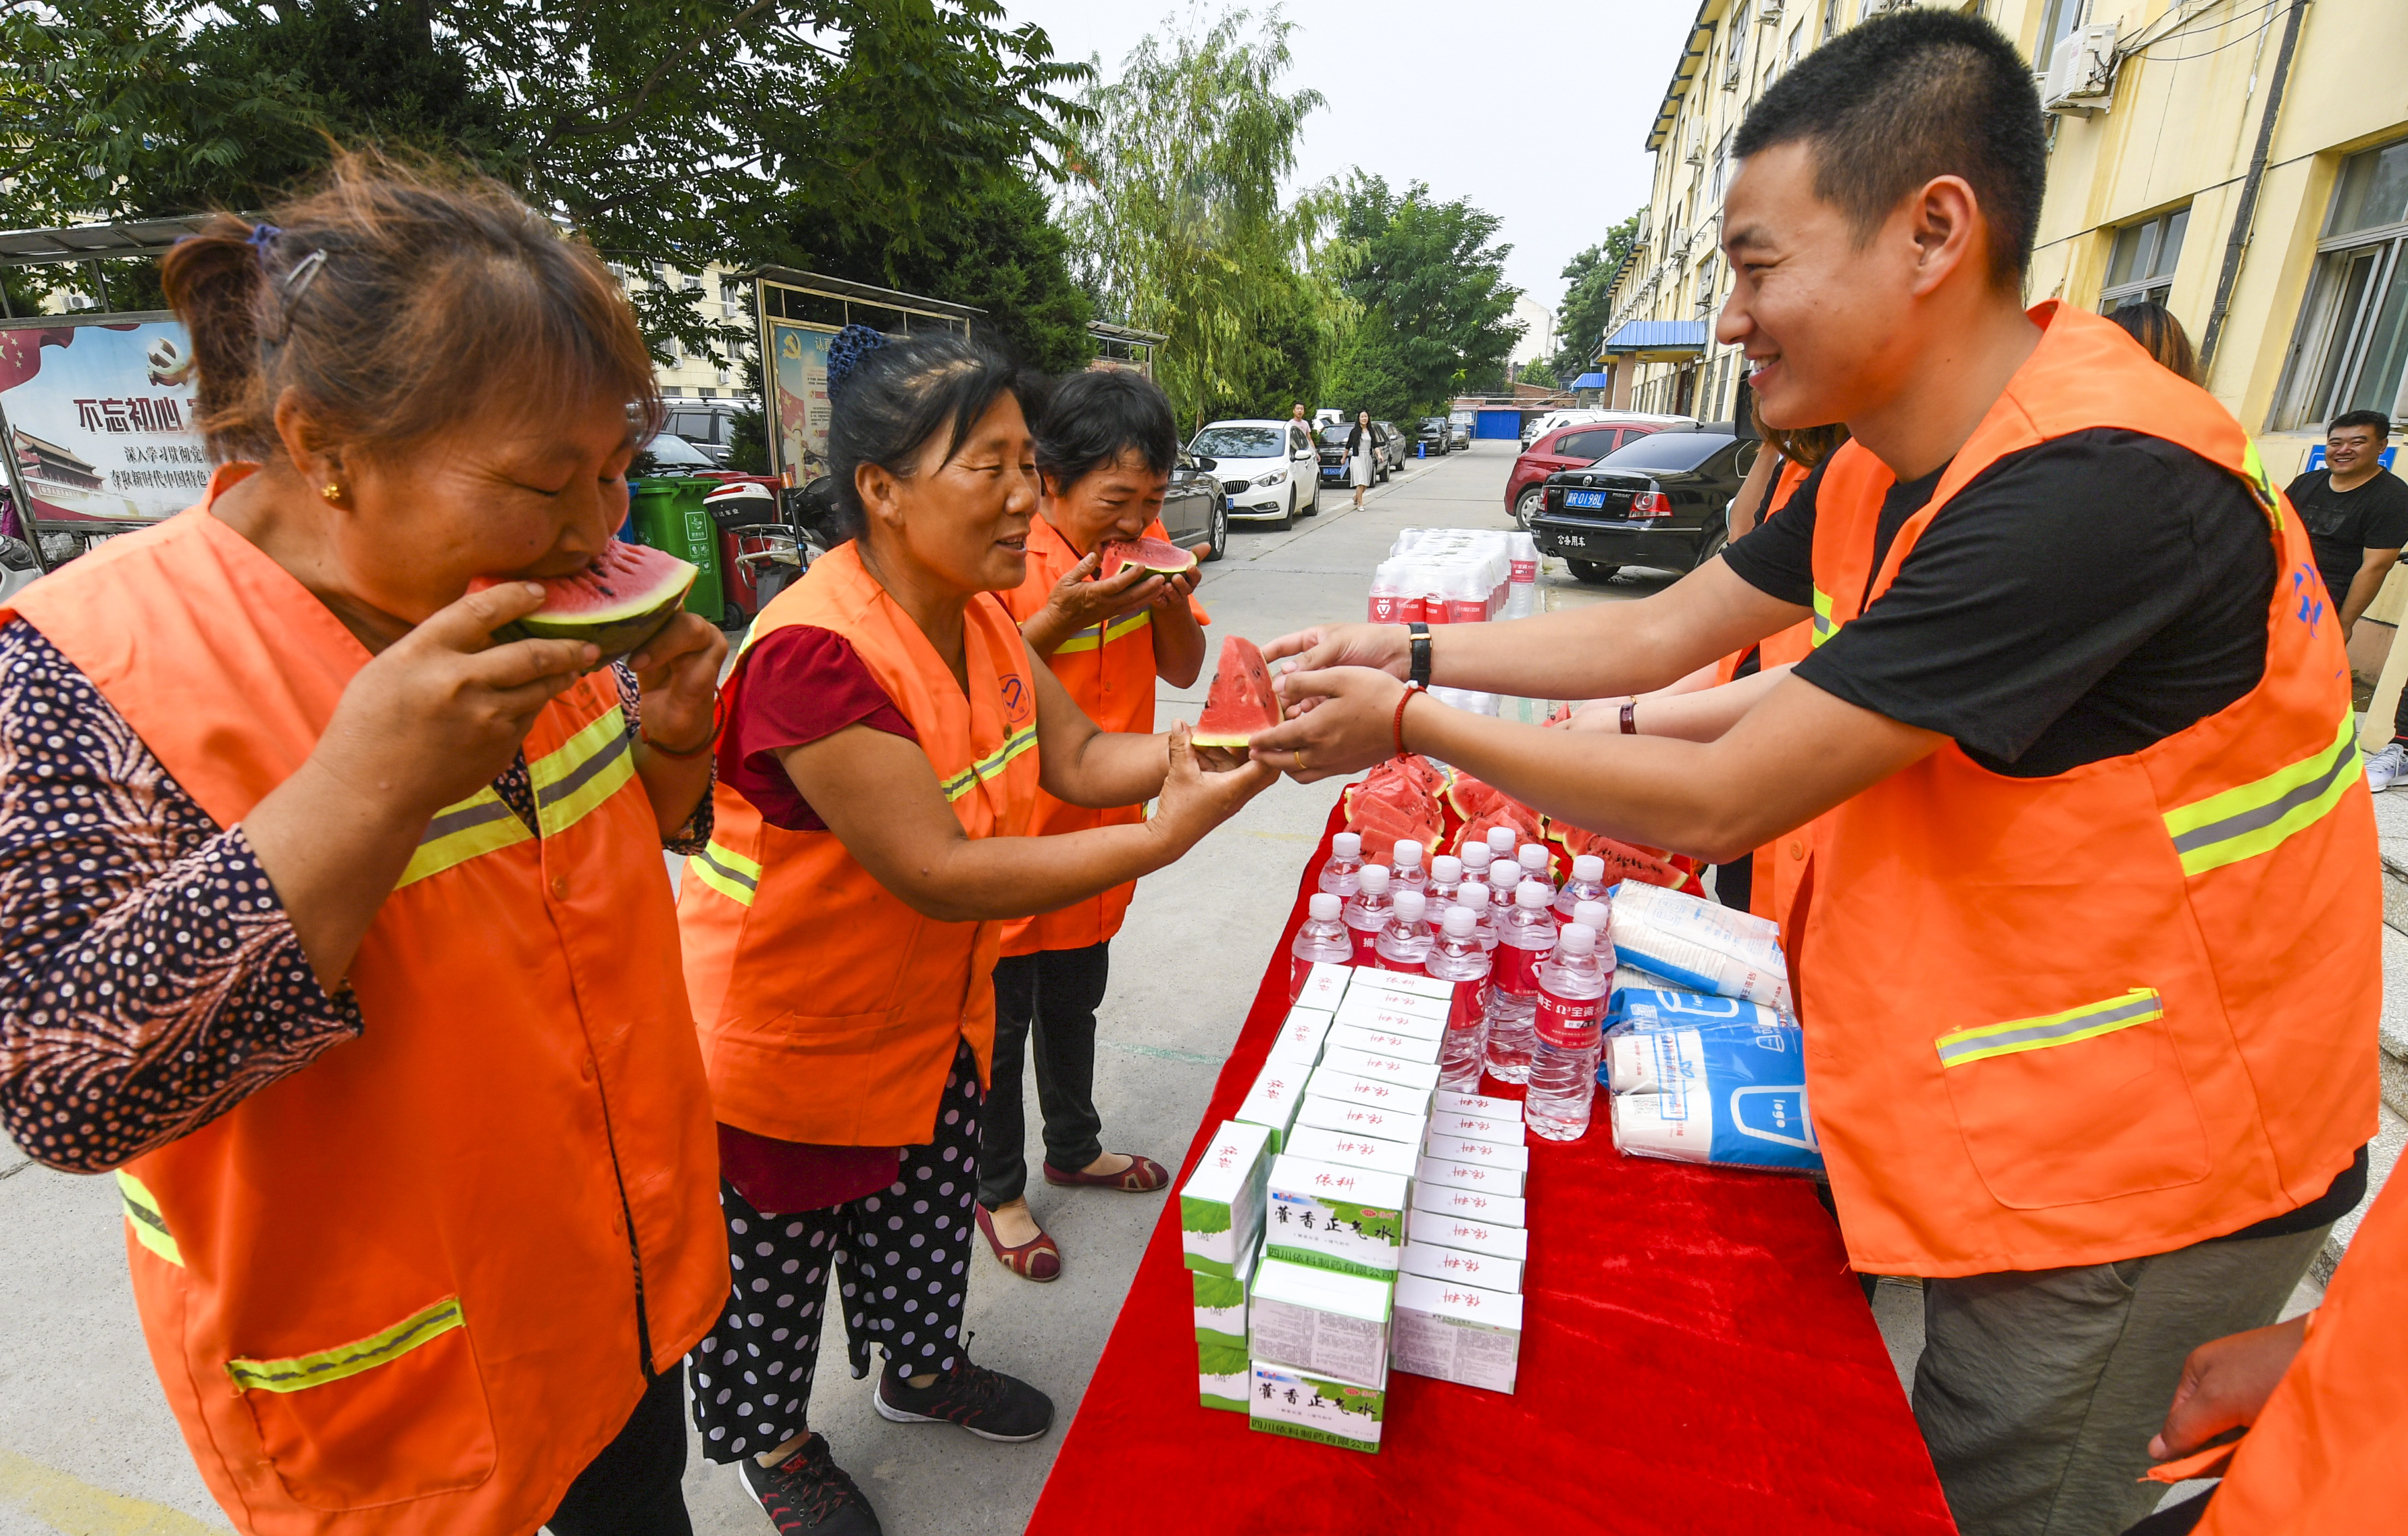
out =
[[(1023, 838), (1038, 804), (1028, 648), (992, 595), (963, 612), (968, 693), (857, 544), (821, 559), (754, 624), (852, 643), (920, 732), (970, 838)], [(718, 1117), (819, 1146), (920, 1146), (961, 1040), (995, 1054), (999, 922), (937, 922), (855, 862), (836, 833), (790, 833), (725, 782), (710, 847), (686, 862), (677, 920)]]

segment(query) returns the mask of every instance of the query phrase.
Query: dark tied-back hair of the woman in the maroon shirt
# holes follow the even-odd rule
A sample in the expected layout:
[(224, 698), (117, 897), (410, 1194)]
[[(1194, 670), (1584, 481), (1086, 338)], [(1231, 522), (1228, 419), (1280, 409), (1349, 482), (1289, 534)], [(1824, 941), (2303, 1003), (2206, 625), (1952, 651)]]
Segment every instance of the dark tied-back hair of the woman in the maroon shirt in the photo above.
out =
[(891, 339), (848, 325), (828, 342), (828, 534), (862, 537), (869, 515), (855, 484), (862, 465), (910, 479), (920, 453), (951, 431), (939, 465), (954, 462), (997, 397), (1011, 395), (1035, 421), (1045, 380), (1002, 351), (954, 332)]

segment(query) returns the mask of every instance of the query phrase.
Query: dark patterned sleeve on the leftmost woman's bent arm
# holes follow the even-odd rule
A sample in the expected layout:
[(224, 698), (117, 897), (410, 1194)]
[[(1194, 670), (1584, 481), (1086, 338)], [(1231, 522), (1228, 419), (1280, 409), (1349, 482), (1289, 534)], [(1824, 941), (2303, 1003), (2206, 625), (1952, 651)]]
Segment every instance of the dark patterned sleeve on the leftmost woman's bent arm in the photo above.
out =
[(101, 1172), (361, 1033), (243, 828), (39, 631), (0, 626), (0, 1124)]

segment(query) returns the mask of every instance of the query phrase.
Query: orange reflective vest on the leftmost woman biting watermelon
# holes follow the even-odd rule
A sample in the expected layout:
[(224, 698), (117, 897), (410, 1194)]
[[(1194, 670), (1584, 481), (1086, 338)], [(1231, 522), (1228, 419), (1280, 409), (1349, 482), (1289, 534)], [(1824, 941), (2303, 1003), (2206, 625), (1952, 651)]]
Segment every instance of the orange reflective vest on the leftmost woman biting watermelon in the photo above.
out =
[[(14, 612), (219, 826), (368, 662), (207, 506)], [(544, 708), (527, 763), (542, 838), (491, 790), (426, 828), (352, 963), (366, 1033), (118, 1172), (159, 1384), (243, 1531), (535, 1531), (725, 1305), (660, 828), (607, 672)]]

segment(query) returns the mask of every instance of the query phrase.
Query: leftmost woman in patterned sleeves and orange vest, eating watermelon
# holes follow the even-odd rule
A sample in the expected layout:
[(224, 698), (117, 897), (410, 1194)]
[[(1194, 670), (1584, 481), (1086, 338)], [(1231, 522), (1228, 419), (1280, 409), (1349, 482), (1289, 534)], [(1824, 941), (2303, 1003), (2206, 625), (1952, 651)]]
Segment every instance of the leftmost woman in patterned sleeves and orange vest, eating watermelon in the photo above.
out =
[(595, 669), (491, 638), (532, 580), (467, 595), (626, 518), (633, 313), (498, 185), (364, 159), (161, 277), (209, 494), (0, 609), (0, 1112), (118, 1172), (236, 1529), (686, 1531), (727, 1257), (660, 850), (725, 640)]

